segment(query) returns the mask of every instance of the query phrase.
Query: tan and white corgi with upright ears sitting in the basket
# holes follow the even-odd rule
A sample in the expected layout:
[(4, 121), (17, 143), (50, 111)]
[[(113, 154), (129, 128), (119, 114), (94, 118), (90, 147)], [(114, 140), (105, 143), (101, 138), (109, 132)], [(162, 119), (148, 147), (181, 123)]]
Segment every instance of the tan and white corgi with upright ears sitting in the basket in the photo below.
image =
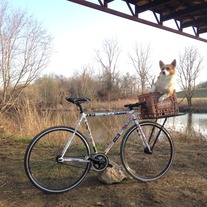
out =
[(155, 85), (152, 86), (151, 93), (159, 92), (161, 97), (158, 102), (165, 100), (173, 94), (176, 83), (176, 60), (173, 60), (171, 64), (164, 64), (162, 61), (160, 64), (160, 75), (157, 78)]

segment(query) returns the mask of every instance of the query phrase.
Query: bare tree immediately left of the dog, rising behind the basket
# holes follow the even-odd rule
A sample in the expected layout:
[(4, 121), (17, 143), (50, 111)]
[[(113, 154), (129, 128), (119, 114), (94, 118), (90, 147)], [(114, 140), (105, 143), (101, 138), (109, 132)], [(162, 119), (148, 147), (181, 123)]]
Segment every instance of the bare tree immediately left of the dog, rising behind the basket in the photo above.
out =
[(138, 75), (138, 82), (141, 88), (141, 93), (145, 93), (147, 86), (150, 86), (152, 74), (150, 74), (150, 46), (145, 48), (140, 44), (135, 44), (134, 54), (129, 54), (129, 58)]

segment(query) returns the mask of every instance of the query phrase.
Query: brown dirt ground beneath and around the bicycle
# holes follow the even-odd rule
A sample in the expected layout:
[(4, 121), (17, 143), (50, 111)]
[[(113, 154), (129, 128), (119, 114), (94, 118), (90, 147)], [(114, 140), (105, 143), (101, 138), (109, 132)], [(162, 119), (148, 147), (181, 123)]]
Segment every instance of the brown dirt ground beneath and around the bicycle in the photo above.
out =
[(157, 181), (125, 180), (104, 185), (95, 172), (90, 172), (78, 188), (64, 194), (46, 194), (25, 175), (23, 157), (27, 143), (0, 138), (0, 206), (207, 206), (207, 141), (178, 135), (173, 139), (174, 164)]

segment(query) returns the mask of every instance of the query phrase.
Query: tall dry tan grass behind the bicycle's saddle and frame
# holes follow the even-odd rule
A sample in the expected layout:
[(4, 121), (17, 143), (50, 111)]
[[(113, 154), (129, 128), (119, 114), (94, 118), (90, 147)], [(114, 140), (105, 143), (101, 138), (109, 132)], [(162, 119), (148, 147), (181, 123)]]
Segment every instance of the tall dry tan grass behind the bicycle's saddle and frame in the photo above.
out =
[[(134, 103), (136, 100), (119, 100), (115, 102), (91, 101), (83, 104), (86, 112), (124, 110), (124, 104)], [(37, 110), (33, 103), (25, 100), (24, 104), (7, 116), (1, 117), (1, 126), (7, 134), (15, 136), (33, 137), (40, 131), (51, 126), (75, 127), (80, 112), (76, 106), (66, 103), (59, 110)], [(127, 120), (127, 116), (107, 116), (88, 118), (94, 138), (97, 140), (112, 139)], [(79, 128), (85, 135), (85, 126)]]

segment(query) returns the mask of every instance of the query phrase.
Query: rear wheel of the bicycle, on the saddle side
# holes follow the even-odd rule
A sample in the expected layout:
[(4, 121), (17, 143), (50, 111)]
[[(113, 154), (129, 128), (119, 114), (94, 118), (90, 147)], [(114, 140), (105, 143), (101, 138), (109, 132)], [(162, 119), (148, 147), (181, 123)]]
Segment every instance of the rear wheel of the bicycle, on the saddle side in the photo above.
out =
[[(74, 129), (64, 126), (48, 128), (36, 135), (29, 144), (24, 167), (29, 180), (49, 193), (63, 193), (78, 186), (90, 170), (90, 162), (57, 161)], [(77, 131), (65, 156), (85, 158), (90, 148), (85, 137)]]

